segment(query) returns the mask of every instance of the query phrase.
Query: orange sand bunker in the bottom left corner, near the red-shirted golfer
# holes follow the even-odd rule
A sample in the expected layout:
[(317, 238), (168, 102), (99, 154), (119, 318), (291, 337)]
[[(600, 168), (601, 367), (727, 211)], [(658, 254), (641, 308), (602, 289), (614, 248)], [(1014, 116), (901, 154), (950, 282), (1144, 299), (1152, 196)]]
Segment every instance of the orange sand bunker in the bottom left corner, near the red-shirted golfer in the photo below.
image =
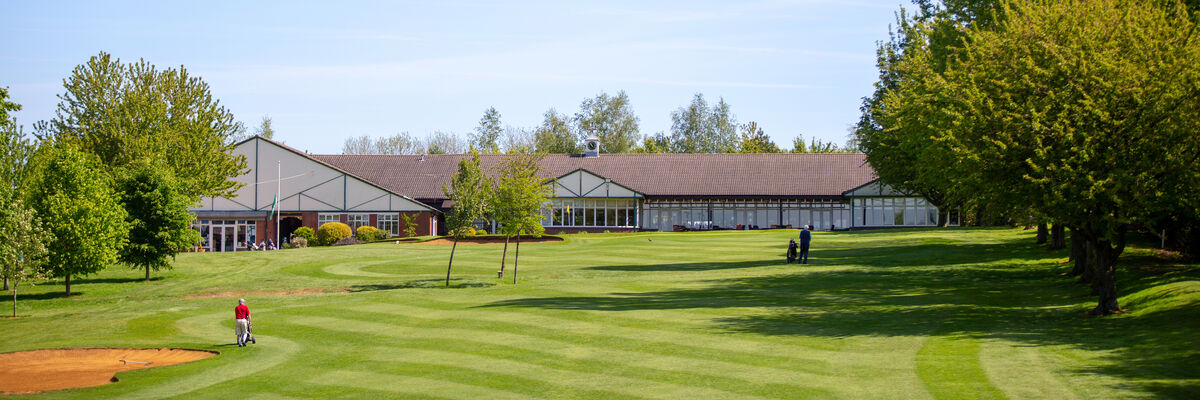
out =
[[(35, 393), (116, 382), (114, 374), (205, 359), (181, 348), (56, 348), (0, 354), (0, 392)], [(124, 362), (122, 362), (124, 360)]]

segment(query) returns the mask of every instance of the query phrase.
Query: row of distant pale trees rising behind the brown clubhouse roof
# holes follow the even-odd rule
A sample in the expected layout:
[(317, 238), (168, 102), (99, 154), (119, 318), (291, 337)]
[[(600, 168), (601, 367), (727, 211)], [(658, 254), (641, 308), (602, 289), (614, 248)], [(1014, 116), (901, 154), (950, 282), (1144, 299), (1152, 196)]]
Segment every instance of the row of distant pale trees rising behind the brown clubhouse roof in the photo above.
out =
[(342, 154), (463, 154), (470, 149), (491, 154), (578, 154), (590, 136), (604, 153), (857, 153), (853, 142), (838, 145), (798, 136), (791, 150), (775, 144), (755, 121), (738, 124), (724, 98), (709, 106), (696, 94), (688, 106), (671, 113), (670, 132), (642, 135), (629, 95), (601, 92), (584, 98), (575, 114), (557, 109), (542, 114), (541, 125), (515, 127), (502, 123), (490, 107), (467, 137), (434, 131), (425, 138), (401, 132), (390, 137), (359, 136), (346, 139)]

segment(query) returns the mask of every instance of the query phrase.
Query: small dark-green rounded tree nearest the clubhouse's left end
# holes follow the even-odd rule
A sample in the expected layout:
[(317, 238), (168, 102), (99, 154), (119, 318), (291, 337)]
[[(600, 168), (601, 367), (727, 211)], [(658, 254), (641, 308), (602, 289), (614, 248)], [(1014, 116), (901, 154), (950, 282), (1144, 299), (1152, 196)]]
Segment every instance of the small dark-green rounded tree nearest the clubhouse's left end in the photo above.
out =
[(116, 187), (130, 227), (121, 261), (145, 269), (146, 281), (151, 269), (169, 269), (176, 253), (200, 241), (199, 232), (191, 227), (194, 217), (187, 211), (199, 199), (185, 195), (170, 171), (137, 165), (121, 174)]

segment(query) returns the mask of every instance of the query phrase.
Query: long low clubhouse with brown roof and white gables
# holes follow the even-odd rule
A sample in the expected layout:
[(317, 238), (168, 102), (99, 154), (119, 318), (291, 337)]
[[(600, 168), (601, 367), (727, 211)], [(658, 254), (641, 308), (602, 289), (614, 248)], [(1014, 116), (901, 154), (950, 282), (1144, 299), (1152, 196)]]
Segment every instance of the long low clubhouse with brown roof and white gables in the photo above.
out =
[[(593, 139), (586, 154), (542, 160), (552, 190), (547, 232), (937, 225), (936, 207), (880, 184), (862, 154), (601, 155), (599, 148)], [(452, 204), (442, 187), (468, 157), (313, 155), (258, 136), (233, 153), (246, 157), (248, 172), (235, 178), (244, 186), (192, 209), (208, 251), (248, 250), (330, 221), (402, 235), (410, 217), (419, 235), (445, 234), (443, 213)], [(493, 174), (504, 157), (481, 155), (484, 171)]]

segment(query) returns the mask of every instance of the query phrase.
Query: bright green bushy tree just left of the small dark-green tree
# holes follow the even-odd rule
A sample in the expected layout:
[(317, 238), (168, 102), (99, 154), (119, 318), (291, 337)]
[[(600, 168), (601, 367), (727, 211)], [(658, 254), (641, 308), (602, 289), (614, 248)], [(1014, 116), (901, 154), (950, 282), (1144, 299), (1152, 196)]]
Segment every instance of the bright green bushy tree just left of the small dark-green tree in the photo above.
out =
[(130, 229), (112, 178), (94, 154), (47, 143), (34, 155), (29, 207), (53, 239), (47, 264), (71, 295), (71, 277), (95, 274), (118, 261)]

